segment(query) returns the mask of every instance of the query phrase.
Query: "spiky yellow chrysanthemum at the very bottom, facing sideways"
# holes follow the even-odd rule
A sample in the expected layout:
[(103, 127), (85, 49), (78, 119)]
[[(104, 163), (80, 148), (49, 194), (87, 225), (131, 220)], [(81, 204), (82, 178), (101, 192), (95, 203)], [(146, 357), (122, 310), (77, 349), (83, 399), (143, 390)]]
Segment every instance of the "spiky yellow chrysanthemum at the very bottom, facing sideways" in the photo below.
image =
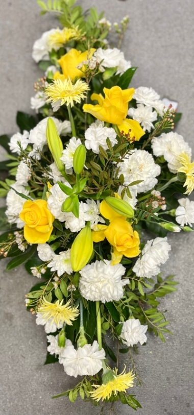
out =
[(95, 390), (90, 392), (92, 399), (95, 399), (98, 402), (101, 399), (104, 401), (105, 399), (110, 399), (112, 393), (117, 395), (118, 392), (126, 392), (129, 387), (133, 387), (135, 375), (132, 374), (132, 371), (126, 373), (124, 369), (120, 375), (117, 375), (117, 369), (115, 369), (110, 371), (109, 374), (112, 375), (110, 376), (110, 379), (112, 378), (113, 380), (109, 380), (106, 384), (102, 383), (102, 385), (92, 385), (95, 387)]

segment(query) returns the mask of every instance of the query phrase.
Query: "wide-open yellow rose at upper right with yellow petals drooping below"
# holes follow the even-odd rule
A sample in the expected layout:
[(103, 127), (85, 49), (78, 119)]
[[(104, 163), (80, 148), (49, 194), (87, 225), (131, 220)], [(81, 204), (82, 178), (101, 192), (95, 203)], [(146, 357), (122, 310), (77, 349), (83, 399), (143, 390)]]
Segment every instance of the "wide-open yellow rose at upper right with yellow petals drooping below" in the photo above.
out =
[(119, 86), (113, 86), (110, 89), (104, 88), (103, 92), (105, 97), (102, 94), (93, 93), (91, 100), (98, 101), (98, 104), (84, 104), (83, 111), (89, 112), (101, 121), (116, 124), (119, 130), (126, 134), (131, 130), (131, 138), (135, 137), (135, 140), (138, 141), (145, 134), (144, 131), (137, 121), (126, 119), (128, 102), (132, 100), (135, 89), (122, 89)]

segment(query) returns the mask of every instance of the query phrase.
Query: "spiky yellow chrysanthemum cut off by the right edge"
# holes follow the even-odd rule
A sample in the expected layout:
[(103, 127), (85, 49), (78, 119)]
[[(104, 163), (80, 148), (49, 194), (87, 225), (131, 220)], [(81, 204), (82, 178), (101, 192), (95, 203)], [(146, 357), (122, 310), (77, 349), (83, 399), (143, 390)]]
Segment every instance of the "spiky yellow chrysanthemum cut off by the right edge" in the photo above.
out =
[(186, 175), (186, 181), (183, 185), (184, 187), (186, 186), (185, 193), (190, 194), (194, 189), (194, 161), (191, 162), (190, 156), (186, 152), (181, 153), (178, 160), (182, 164), (178, 168), (178, 172)]

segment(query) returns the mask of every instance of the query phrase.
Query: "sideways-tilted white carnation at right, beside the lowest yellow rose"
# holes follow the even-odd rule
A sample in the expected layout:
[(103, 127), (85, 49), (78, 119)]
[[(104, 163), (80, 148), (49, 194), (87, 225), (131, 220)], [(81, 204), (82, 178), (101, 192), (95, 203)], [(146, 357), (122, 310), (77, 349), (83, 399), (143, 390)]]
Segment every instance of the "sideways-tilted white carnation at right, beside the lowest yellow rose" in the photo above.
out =
[(159, 274), (160, 265), (167, 261), (169, 251), (171, 251), (171, 246), (166, 237), (148, 240), (133, 267), (134, 273), (137, 277), (144, 278)]

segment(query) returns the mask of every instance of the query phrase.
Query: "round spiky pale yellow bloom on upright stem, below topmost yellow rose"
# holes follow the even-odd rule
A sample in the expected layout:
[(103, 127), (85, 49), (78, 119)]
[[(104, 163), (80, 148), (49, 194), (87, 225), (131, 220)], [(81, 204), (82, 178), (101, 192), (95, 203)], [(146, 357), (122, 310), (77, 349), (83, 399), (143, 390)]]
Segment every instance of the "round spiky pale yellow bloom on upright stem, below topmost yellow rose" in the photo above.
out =
[(80, 79), (75, 84), (72, 84), (70, 79), (65, 79), (64, 81), (56, 79), (47, 86), (45, 94), (48, 96), (48, 101), (53, 103), (61, 101), (60, 105), (70, 104), (73, 107), (74, 101), (80, 103), (81, 99), (85, 98), (85, 93), (88, 90), (89, 86)]

